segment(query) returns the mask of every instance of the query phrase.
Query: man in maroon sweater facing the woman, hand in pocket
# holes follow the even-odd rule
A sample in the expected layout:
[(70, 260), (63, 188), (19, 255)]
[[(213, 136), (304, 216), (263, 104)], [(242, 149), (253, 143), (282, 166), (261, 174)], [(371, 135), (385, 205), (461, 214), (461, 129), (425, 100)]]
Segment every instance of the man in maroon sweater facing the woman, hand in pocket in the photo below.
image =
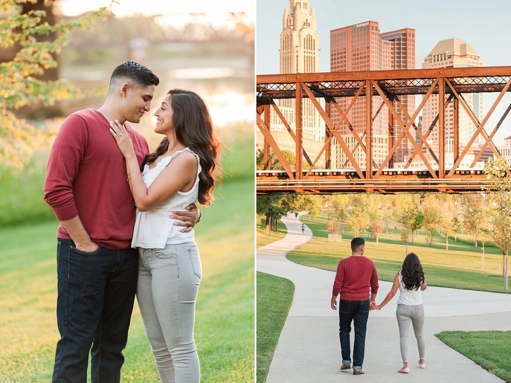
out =
[[(140, 122), (158, 77), (145, 66), (121, 63), (99, 109), (63, 122), (52, 146), (44, 200), (60, 221), (57, 234), (57, 325), (53, 383), (119, 383), (136, 291), (138, 253), (131, 248), (135, 204), (125, 160), (108, 121)], [(125, 124), (142, 164), (147, 141)], [(179, 218), (193, 226), (193, 209)]]

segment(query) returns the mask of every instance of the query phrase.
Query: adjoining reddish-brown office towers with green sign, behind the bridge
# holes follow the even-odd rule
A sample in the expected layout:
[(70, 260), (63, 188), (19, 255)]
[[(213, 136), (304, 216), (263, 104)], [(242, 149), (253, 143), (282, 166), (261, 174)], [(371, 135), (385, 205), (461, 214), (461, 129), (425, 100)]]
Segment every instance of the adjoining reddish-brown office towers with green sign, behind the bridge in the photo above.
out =
[[(350, 71), (381, 71), (394, 69), (413, 69), (415, 67), (415, 30), (404, 28), (397, 31), (380, 33), (377, 21), (366, 21), (360, 24), (338, 28), (330, 31), (330, 70), (331, 72)], [(414, 96), (401, 96), (401, 102), (411, 116), (415, 110)], [(342, 110), (351, 103), (351, 97), (338, 98), (337, 102)], [(378, 110), (382, 99), (373, 97), (373, 115)], [(360, 97), (347, 114), (353, 129), (359, 136), (365, 132), (365, 97)], [(396, 106), (394, 106), (396, 107)], [(399, 110), (399, 108), (397, 108)], [(404, 112), (401, 118), (408, 120)], [(332, 119), (337, 123), (340, 115), (337, 110), (332, 111)], [(401, 134), (401, 127), (394, 123), (394, 142)], [(341, 135), (346, 145), (353, 150), (357, 141), (343, 123)], [(363, 140), (365, 142), (365, 138)], [(409, 141), (403, 140), (396, 151), (394, 161), (403, 161), (409, 151)], [(333, 152), (336, 153), (336, 166), (347, 164), (347, 157), (335, 143)], [(373, 157), (376, 165), (380, 165), (388, 153), (388, 108), (383, 106), (377, 118), (373, 121)], [(359, 148), (354, 152), (358, 164), (365, 163), (365, 153)]]

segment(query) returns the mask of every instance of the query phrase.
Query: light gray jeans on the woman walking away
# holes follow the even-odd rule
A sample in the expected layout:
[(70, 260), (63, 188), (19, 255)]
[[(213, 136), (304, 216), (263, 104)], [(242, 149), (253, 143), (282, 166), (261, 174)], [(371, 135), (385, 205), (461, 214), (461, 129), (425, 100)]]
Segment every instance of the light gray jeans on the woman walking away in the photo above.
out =
[(401, 347), (403, 363), (408, 362), (408, 331), (410, 330), (410, 322), (417, 339), (419, 358), (424, 359), (426, 356), (426, 342), (422, 332), (424, 327), (424, 305), (408, 306), (400, 303), (396, 309), (396, 317), (398, 318), (399, 345)]

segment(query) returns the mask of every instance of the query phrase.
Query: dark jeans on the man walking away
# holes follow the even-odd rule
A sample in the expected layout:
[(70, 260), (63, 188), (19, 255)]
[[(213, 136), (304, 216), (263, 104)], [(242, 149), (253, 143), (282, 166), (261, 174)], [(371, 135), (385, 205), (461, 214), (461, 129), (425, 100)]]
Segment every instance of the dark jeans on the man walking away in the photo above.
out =
[(369, 300), (339, 302), (339, 340), (341, 341), (342, 363), (351, 364), (350, 332), (355, 327), (353, 345), (353, 369), (360, 370), (364, 362), (365, 330), (369, 317)]

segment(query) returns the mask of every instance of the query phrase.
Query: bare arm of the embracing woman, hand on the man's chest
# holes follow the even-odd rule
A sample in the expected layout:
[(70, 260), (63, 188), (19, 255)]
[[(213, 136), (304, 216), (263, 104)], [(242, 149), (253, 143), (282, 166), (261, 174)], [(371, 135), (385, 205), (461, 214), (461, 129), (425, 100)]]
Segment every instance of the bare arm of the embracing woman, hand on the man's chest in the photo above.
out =
[[(117, 121), (116, 123), (118, 124)], [(126, 160), (131, 194), (139, 211), (149, 211), (183, 187), (193, 186), (198, 168), (197, 159), (193, 153), (183, 152), (175, 156), (171, 164), (158, 174), (149, 189), (146, 188), (128, 132), (124, 126), (120, 127), (116, 124), (110, 124), (110, 126), (112, 136)]]

